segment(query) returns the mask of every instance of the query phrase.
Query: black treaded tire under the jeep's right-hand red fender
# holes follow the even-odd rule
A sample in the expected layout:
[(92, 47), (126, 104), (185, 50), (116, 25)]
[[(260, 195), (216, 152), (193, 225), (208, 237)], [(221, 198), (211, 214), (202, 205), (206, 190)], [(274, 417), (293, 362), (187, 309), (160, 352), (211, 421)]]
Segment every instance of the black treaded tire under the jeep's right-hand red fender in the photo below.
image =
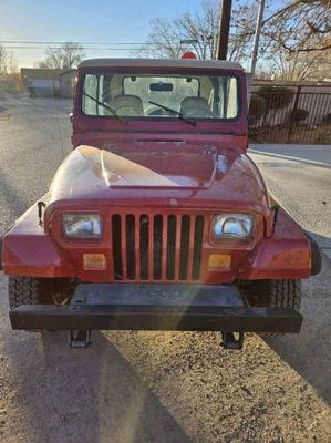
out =
[[(300, 311), (301, 280), (256, 280), (241, 286), (247, 303), (252, 307), (290, 308)], [(261, 337), (280, 337), (282, 333), (262, 332)]]

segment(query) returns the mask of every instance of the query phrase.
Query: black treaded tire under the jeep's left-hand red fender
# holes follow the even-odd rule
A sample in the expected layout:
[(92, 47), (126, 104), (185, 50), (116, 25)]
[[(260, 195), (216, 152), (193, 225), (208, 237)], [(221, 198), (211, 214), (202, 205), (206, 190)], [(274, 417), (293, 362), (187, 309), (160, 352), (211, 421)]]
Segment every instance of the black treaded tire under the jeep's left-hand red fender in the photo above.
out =
[(15, 309), (21, 305), (52, 303), (51, 281), (43, 278), (9, 277), (9, 307)]

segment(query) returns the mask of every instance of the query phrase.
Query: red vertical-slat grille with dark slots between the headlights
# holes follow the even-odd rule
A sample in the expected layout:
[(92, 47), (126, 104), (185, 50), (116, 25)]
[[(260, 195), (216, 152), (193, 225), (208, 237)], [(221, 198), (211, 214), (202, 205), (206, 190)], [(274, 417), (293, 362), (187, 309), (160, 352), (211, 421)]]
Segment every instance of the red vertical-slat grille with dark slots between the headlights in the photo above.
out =
[(203, 215), (114, 214), (111, 222), (115, 280), (199, 280)]

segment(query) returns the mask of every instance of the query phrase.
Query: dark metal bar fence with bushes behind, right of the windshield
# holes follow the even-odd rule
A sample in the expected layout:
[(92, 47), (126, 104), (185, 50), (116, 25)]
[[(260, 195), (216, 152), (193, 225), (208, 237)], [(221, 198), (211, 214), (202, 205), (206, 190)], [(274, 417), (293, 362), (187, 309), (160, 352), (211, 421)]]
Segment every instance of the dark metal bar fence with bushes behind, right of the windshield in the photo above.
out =
[(331, 144), (331, 85), (260, 86), (249, 113), (251, 142)]

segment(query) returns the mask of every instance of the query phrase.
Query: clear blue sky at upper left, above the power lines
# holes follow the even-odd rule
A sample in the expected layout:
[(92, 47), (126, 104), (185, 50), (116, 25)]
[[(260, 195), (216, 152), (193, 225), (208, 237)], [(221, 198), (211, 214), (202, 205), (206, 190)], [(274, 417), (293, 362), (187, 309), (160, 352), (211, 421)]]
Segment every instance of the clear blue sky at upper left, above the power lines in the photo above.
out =
[[(200, 0), (0, 0), (0, 42), (143, 42), (151, 20), (197, 11)], [(19, 43), (14, 45), (20, 45)], [(31, 44), (33, 45), (33, 44)], [(20, 66), (42, 60), (44, 49), (14, 49)], [(128, 51), (89, 50), (90, 56), (130, 56)]]

